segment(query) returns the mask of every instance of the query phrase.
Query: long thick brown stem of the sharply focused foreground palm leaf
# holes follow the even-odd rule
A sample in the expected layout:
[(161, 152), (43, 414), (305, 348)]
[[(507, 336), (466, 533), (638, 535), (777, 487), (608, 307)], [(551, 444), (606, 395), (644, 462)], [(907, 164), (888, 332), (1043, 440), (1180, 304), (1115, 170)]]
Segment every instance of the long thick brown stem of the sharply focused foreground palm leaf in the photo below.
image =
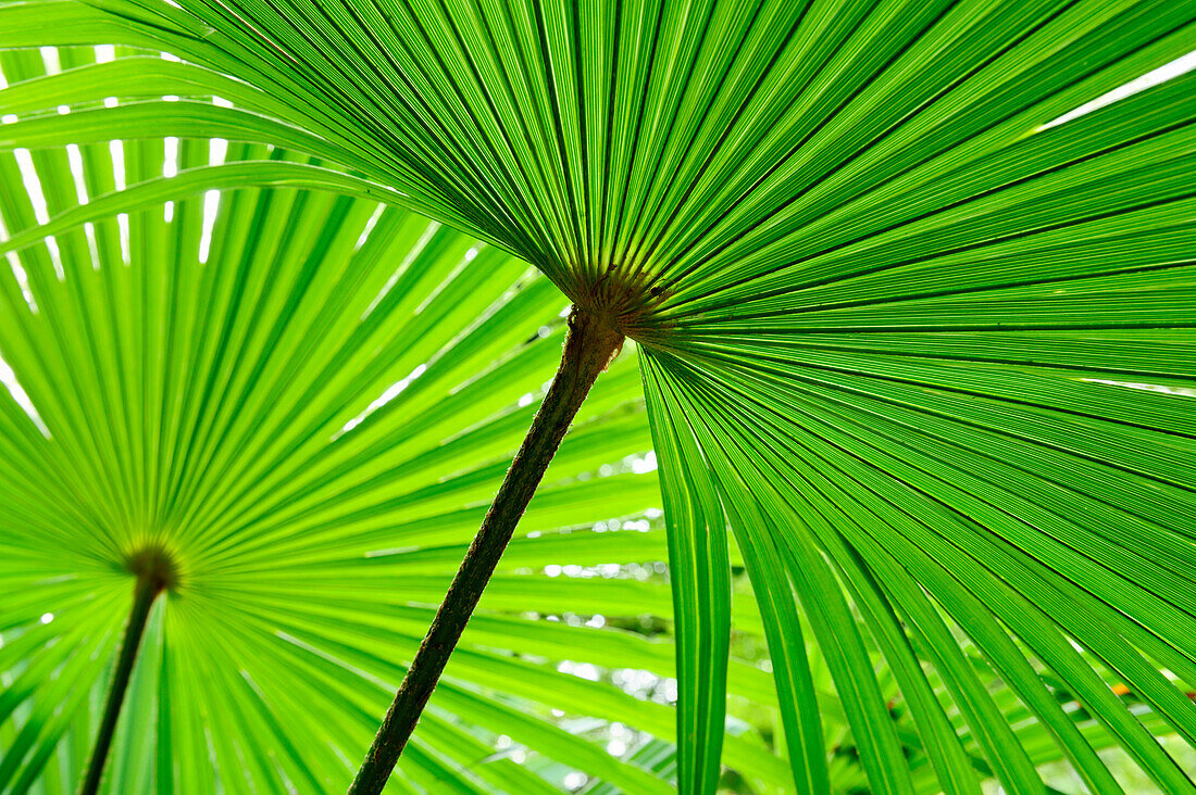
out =
[(623, 334), (606, 318), (573, 307), (553, 385), (386, 710), (349, 785), (349, 795), (377, 795), (383, 790), (561, 439), (622, 344)]

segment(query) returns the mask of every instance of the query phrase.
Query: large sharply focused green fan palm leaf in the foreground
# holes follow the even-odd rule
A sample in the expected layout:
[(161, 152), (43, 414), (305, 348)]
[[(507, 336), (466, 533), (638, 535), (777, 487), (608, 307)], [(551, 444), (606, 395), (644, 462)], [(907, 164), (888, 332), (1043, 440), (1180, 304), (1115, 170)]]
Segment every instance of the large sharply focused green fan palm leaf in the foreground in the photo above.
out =
[[(1154, 734), (1196, 741), (1194, 78), (1070, 112), (1192, 49), (1189, 5), (36, 5), (4, 36), (184, 63), (10, 88), (141, 99), (10, 146), (151, 118), (285, 145), (616, 301), (670, 520), (684, 791), (719, 770), (727, 526), (800, 791), (834, 772), (811, 647), (874, 791), (925, 772), (878, 653), (942, 789), (1042, 787), (994, 680), (1094, 790), (1119, 789), (1102, 738), (1191, 789)], [(189, 93), (236, 106), (155, 99)]]

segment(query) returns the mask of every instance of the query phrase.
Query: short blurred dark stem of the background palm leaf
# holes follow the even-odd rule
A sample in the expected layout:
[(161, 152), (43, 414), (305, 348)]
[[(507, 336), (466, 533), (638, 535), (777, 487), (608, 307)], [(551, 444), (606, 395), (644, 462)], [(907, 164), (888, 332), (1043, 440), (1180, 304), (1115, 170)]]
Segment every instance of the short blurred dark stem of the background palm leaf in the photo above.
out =
[(138, 650), (141, 648), (141, 636), (145, 635), (146, 622), (150, 620), (150, 611), (153, 609), (158, 594), (173, 585), (173, 568), (170, 558), (157, 549), (147, 549), (130, 555), (127, 568), (136, 575), (133, 606), (129, 609), (129, 623), (124, 629), (121, 654), (116, 660), (116, 671), (112, 673), (112, 681), (108, 690), (108, 701), (104, 703), (99, 734), (96, 735), (96, 744), (92, 746), (87, 776), (79, 788), (80, 795), (94, 795), (99, 790), (99, 782), (104, 775), (104, 763), (108, 762), (112, 735), (116, 734), (116, 722), (121, 717), (124, 693), (129, 689), (129, 678), (133, 675), (133, 666), (138, 659)]

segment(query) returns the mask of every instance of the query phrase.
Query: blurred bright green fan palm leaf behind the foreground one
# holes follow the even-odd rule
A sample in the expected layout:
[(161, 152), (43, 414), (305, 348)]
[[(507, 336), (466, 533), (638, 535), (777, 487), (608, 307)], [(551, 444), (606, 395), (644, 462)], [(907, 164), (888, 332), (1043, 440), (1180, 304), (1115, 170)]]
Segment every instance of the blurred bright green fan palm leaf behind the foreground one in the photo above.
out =
[[(7, 53), (2, 69), (32, 79), (43, 57)], [(105, 791), (336, 791), (551, 377), (567, 302), (526, 263), (405, 210), (189, 181), (289, 166), (319, 184), (306, 158), (116, 148), (115, 167), (108, 145), (0, 157), (0, 790), (77, 788), (129, 610), (127, 558), (161, 546), (178, 586), (152, 614)], [(671, 643), (543, 618), (669, 618), (667, 586), (617, 567), (544, 575), (665, 555), (642, 519), (657, 479), (628, 458), (649, 447), (628, 355), (525, 515), (396, 791), (557, 791), (570, 770), (667, 790), (550, 710), (671, 747), (663, 696), (557, 671), (670, 677)], [(620, 518), (636, 522), (608, 527)], [(767, 698), (762, 672), (739, 669)], [(530, 762), (493, 758), (500, 735)], [(761, 740), (737, 748), (731, 764), (783, 784)]]

